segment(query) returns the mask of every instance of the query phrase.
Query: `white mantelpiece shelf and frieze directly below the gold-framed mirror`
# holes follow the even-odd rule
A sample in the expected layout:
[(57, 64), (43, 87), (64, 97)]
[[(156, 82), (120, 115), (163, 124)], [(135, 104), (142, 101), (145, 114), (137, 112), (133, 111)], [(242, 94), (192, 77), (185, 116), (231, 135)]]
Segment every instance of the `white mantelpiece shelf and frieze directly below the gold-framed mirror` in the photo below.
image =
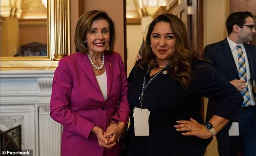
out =
[(49, 101), (52, 90), (53, 70), (1, 71), (0, 97), (2, 102)]

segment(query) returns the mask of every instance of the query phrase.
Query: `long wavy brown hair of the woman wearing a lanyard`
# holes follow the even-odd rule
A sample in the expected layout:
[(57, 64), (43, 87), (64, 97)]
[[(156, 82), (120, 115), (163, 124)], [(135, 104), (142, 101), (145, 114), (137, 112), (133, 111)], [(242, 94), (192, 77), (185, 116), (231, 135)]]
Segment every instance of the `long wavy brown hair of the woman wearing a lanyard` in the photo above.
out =
[(139, 64), (139, 67), (142, 69), (150, 66), (153, 68), (158, 67), (157, 61), (155, 60), (155, 55), (151, 49), (150, 37), (155, 25), (159, 22), (170, 23), (170, 27), (172, 28), (176, 39), (175, 52), (171, 58), (168, 71), (170, 71), (171, 77), (180, 81), (183, 89), (187, 90), (191, 81), (191, 61), (194, 58), (199, 60), (203, 59), (201, 59), (199, 52), (194, 50), (194, 46), (189, 41), (187, 29), (183, 21), (181, 21), (175, 15), (168, 13), (159, 15), (149, 24), (147, 27), (148, 31), (146, 35), (145, 48), (142, 52), (142, 61)]

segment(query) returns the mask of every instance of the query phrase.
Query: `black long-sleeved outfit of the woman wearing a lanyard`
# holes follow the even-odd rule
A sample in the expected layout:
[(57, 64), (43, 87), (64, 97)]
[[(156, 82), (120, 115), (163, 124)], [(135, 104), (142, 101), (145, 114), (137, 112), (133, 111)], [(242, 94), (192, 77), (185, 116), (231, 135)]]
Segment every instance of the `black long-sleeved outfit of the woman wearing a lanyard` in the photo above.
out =
[[(149, 136), (134, 136), (133, 109), (140, 108), (143, 77), (148, 69), (134, 67), (128, 77), (128, 101), (131, 124), (126, 133), (125, 146), (128, 156), (203, 156), (211, 141), (196, 136), (183, 136), (175, 130), (178, 120), (190, 117), (204, 124), (201, 117), (201, 97), (220, 102), (219, 116), (233, 118), (243, 97), (231, 83), (223, 78), (209, 63), (194, 60), (191, 85), (185, 91), (180, 81), (170, 73), (159, 73), (144, 92), (142, 107), (150, 110)], [(150, 79), (146, 76), (146, 82)], [(231, 102), (233, 104), (231, 105)]]

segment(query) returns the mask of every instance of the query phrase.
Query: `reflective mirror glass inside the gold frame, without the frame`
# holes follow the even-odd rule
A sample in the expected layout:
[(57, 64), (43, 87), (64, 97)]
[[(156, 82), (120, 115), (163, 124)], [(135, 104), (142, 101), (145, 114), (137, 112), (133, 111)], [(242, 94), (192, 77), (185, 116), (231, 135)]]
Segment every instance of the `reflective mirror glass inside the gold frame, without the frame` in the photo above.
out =
[[(18, 3), (15, 5), (19, 6)], [(1, 2), (3, 18), (0, 56), (49, 56), (47, 52), (47, 0), (20, 1), (20, 8), (16, 7), (19, 11), (14, 15), (11, 12), (2, 11), (9, 6), (11, 4), (8, 4), (8, 1)]]

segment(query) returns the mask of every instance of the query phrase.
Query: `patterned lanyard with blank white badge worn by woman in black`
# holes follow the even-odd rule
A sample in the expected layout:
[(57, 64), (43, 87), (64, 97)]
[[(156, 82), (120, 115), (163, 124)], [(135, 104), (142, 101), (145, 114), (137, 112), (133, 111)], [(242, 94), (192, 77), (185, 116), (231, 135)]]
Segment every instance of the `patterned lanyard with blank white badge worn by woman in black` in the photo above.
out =
[(156, 73), (151, 79), (146, 84), (146, 75), (149, 73), (149, 71), (152, 69), (151, 67), (148, 69), (147, 73), (145, 74), (143, 78), (143, 87), (142, 87), (142, 92), (141, 96), (138, 98), (140, 100), (141, 108), (135, 107), (133, 110), (133, 118), (134, 118), (134, 134), (135, 136), (149, 136), (149, 114), (150, 111), (147, 108), (142, 109), (142, 104), (143, 104), (143, 94), (144, 91), (147, 89), (149, 84), (157, 77), (159, 73), (164, 71), (166, 67), (170, 62), (158, 73)]

